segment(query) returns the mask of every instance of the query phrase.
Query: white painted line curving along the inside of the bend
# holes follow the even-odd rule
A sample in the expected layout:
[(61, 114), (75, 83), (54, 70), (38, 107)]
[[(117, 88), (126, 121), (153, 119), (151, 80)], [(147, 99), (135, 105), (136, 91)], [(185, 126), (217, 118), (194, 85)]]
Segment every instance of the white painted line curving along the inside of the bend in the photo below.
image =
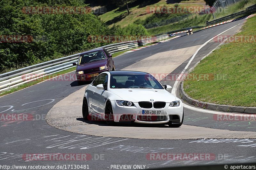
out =
[[(214, 38), (218, 37), (219, 35), (223, 34), (224, 32), (227, 32), (228, 30), (230, 30), (230, 29), (232, 29), (232, 28), (234, 28), (234, 27), (236, 27), (236, 26), (237, 26), (237, 25), (235, 25), (235, 26), (233, 26), (233, 27), (231, 27), (231, 28), (229, 28), (229, 29), (227, 29), (227, 30), (221, 32), (220, 34), (218, 34), (218, 35), (216, 35), (216, 36), (214, 36), (213, 38), (211, 38), (211, 39), (209, 39), (208, 41), (206, 41), (202, 46), (200, 46), (200, 47), (196, 50), (196, 53), (194, 53), (194, 55), (192, 56), (192, 58), (188, 61), (188, 64), (186, 65), (186, 67), (182, 70), (182, 72), (180, 73), (179, 77), (176, 79), (176, 81), (175, 81), (175, 83), (174, 83), (174, 85), (173, 85), (173, 88), (172, 88), (172, 92), (171, 92), (173, 95), (176, 96), (176, 91), (177, 91), (177, 86), (178, 86), (178, 84), (179, 84), (179, 80), (180, 80), (181, 76), (184, 74), (184, 72), (188, 69), (188, 66), (189, 66), (189, 65), (191, 64), (191, 62), (194, 60), (194, 58), (195, 58), (196, 54), (199, 52), (199, 50), (201, 50), (205, 45), (207, 45), (207, 44), (208, 44), (210, 41), (212, 41)], [(185, 103), (183, 103), (183, 106), (184, 106), (185, 108), (190, 109), (190, 110), (195, 110), (195, 111), (204, 112), (204, 113), (221, 114), (221, 115), (227, 114), (227, 113), (221, 113), (221, 112), (212, 111), (212, 110), (204, 110), (204, 109), (195, 108), (195, 107), (189, 106), (189, 105), (187, 105), (187, 104), (185, 104)], [(243, 114), (238, 114), (238, 115), (243, 116)]]

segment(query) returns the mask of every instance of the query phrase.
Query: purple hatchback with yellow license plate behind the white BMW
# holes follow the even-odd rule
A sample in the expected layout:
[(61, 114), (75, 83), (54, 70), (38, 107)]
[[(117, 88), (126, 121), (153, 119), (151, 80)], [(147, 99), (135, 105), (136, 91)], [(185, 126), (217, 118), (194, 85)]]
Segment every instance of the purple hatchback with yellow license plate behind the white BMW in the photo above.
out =
[(104, 71), (115, 71), (112, 55), (105, 48), (83, 52), (78, 57), (78, 62), (73, 63), (76, 67), (78, 83), (92, 81)]

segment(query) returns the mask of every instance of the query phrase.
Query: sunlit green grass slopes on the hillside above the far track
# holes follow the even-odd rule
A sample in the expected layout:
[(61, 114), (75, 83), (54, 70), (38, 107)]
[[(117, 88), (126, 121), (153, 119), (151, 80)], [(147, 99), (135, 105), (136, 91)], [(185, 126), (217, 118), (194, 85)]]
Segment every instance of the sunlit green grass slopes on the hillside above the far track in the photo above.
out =
[[(247, 8), (248, 6), (251, 6), (253, 4), (256, 4), (256, 0), (239, 1), (236, 4), (229, 5), (228, 8), (225, 8), (224, 10), (222, 9), (221, 12), (215, 13), (214, 14), (215, 19), (230, 15), (235, 12), (245, 10), (245, 8)], [(148, 4), (148, 5), (144, 5), (144, 7), (139, 7), (139, 5), (132, 7), (132, 8), (130, 8), (130, 11), (131, 11), (130, 15), (127, 15), (126, 10), (119, 11), (119, 8), (117, 8), (115, 10), (108, 11), (107, 13), (100, 15), (99, 17), (103, 21), (106, 21), (106, 22), (112, 20), (113, 23), (109, 25), (110, 27), (113, 25), (120, 25), (121, 27), (124, 27), (130, 23), (133, 23), (137, 19), (145, 20), (147, 17), (152, 16), (153, 13), (146, 12), (150, 6), (156, 7), (156, 6), (164, 6), (164, 5), (167, 7), (174, 6), (174, 4), (167, 4), (166, 0), (160, 0), (156, 4)], [(179, 7), (204, 6), (204, 5), (205, 5), (204, 1), (202, 1), (202, 0), (181, 1), (179, 3)], [(172, 14), (172, 15), (174, 15), (174, 14)], [(119, 18), (119, 19), (115, 20), (115, 18)], [(214, 18), (212, 16), (212, 14), (198, 15), (198, 14), (194, 13), (194, 14), (191, 14), (190, 16), (188, 16), (188, 18), (184, 18), (183, 20), (180, 20), (179, 22), (175, 22), (175, 23), (168, 24), (168, 25), (163, 25), (160, 27), (156, 26), (155, 28), (150, 28), (150, 29), (148, 29), (148, 32), (151, 35), (156, 35), (156, 34), (170, 32), (170, 31), (174, 31), (174, 30), (178, 30), (178, 29), (182, 29), (182, 28), (186, 28), (186, 27), (190, 27), (190, 26), (202, 26), (202, 25), (205, 25), (206, 21), (211, 21), (213, 19)]]

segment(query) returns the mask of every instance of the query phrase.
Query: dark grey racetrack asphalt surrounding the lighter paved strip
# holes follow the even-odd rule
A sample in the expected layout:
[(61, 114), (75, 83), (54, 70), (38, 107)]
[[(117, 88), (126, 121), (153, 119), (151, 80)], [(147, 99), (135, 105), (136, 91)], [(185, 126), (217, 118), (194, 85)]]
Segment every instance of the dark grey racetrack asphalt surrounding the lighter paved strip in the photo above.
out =
[[(189, 46), (201, 45), (208, 39), (235, 26), (244, 20), (220, 25), (193, 35), (183, 36), (169, 42), (141, 49), (114, 58), (116, 69), (128, 67), (153, 54)], [(236, 27), (235, 27), (236, 28)], [(234, 28), (234, 29), (235, 29)], [(234, 33), (230, 30), (226, 35)], [(229, 34), (228, 34), (229, 33)], [(233, 34), (232, 33), (232, 34)], [(204, 55), (218, 46), (210, 42), (199, 51), (191, 67)], [(189, 60), (189, 59), (188, 59)], [(180, 73), (188, 63), (186, 60), (172, 73)], [(74, 74), (71, 73), (71, 74)], [(173, 86), (174, 81), (163, 82)], [(1, 114), (31, 114), (37, 120), (0, 121), (0, 162), (1, 165), (89, 165), (90, 169), (110, 169), (111, 165), (129, 164), (146, 165), (145, 168), (157, 168), (183, 165), (226, 164), (256, 162), (256, 139), (132, 139), (109, 138), (80, 135), (62, 131), (49, 126), (44, 116), (60, 100), (81, 89), (76, 81), (45, 81), (0, 98)], [(9, 109), (10, 108), (10, 109)], [(9, 110), (8, 110), (9, 109)], [(19, 111), (20, 110), (20, 111)], [(255, 131), (255, 124), (244, 125), (243, 122), (216, 122), (211, 114), (184, 109), (184, 124), (228, 129), (236, 131)], [(213, 153), (211, 160), (148, 160), (147, 153)], [(24, 161), (25, 153), (89, 153), (93, 160), (89, 161)], [(94, 155), (103, 154), (104, 158), (96, 160)], [(222, 157), (225, 154), (225, 157)]]

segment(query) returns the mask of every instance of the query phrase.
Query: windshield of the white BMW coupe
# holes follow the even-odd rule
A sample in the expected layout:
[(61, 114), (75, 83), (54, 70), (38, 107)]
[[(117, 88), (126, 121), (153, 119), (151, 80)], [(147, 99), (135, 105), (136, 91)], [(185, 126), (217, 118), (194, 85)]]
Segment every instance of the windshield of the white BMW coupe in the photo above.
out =
[(118, 74), (110, 76), (112, 89), (164, 89), (151, 74)]

